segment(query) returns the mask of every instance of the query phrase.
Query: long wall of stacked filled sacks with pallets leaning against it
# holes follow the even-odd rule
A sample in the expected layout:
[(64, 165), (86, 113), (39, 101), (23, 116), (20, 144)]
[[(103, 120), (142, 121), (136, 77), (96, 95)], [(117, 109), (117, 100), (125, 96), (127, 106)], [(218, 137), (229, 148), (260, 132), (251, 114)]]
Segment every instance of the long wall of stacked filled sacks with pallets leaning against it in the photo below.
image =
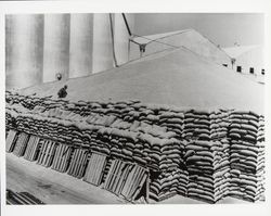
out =
[[(151, 171), (150, 198), (156, 201), (177, 193), (211, 203), (228, 195), (257, 201), (264, 191), (264, 123), (251, 112), (139, 101), (68, 102), (7, 92), (5, 113), (9, 129), (41, 139), (39, 155), (26, 157), (94, 185), (111, 182), (107, 176), (115, 175), (113, 166), (120, 160), (116, 167), (131, 163)], [(30, 151), (25, 143), (14, 147), (20, 156)], [(92, 157), (95, 152), (104, 155), (96, 174), (91, 173), (98, 167), (91, 163), (100, 160)], [(125, 183), (122, 174), (116, 175)], [(121, 193), (116, 182), (104, 185), (113, 190), (111, 186)], [(139, 193), (127, 191), (129, 199)]]

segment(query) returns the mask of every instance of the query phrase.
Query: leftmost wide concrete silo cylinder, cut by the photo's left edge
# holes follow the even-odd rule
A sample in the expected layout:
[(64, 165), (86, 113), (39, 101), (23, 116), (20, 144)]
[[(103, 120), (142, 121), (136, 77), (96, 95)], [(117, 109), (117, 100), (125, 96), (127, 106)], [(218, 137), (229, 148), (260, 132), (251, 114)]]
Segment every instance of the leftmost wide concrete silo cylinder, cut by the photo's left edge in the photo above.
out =
[(7, 88), (25, 88), (42, 81), (43, 15), (5, 16)]

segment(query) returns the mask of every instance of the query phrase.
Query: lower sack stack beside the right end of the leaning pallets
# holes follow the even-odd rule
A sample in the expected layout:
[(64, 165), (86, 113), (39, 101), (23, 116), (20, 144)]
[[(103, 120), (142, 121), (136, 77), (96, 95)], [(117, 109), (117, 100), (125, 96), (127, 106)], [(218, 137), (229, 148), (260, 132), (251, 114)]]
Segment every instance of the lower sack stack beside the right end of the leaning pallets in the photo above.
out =
[(152, 141), (150, 156), (152, 163), (158, 165), (160, 173), (151, 181), (150, 196), (152, 199), (162, 201), (176, 193), (186, 194), (188, 171), (183, 161), (183, 151), (184, 144), (172, 137)]

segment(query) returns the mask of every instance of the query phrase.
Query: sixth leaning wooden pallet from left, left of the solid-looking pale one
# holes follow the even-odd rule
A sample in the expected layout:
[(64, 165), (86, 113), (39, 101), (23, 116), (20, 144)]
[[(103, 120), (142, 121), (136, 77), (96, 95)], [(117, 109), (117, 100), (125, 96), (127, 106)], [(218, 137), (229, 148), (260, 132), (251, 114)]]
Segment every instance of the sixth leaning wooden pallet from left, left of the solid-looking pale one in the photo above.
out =
[(76, 178), (82, 178), (88, 163), (89, 151), (86, 149), (75, 149), (67, 174)]

